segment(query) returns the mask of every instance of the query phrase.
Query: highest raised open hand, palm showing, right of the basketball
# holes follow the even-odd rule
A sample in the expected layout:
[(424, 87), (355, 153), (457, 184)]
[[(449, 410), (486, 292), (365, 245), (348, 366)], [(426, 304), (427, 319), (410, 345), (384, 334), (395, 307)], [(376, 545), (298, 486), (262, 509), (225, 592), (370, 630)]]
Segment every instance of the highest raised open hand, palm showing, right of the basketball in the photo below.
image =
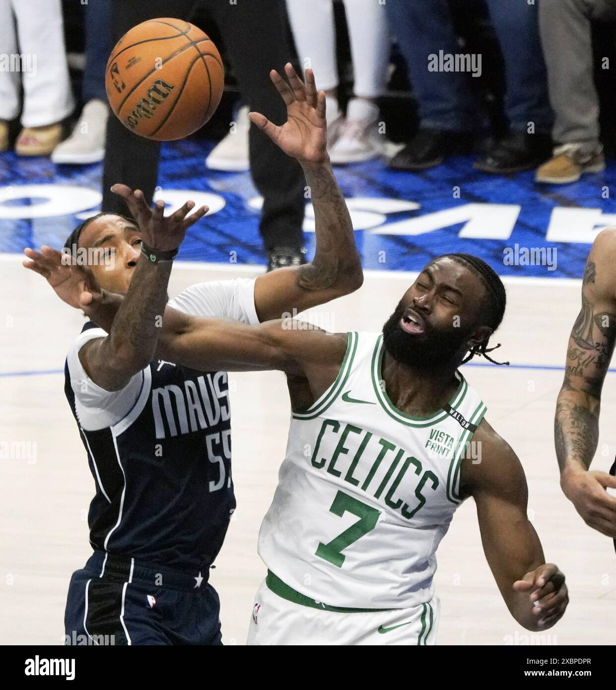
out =
[(251, 112), (250, 121), (263, 130), (276, 146), (300, 163), (324, 163), (329, 159), (325, 92), (317, 93), (312, 70), (306, 70), (305, 84), (290, 63), (285, 65), (284, 71), (288, 83), (276, 70), (270, 72), (270, 78), (286, 103), (286, 123), (277, 126), (260, 112)]

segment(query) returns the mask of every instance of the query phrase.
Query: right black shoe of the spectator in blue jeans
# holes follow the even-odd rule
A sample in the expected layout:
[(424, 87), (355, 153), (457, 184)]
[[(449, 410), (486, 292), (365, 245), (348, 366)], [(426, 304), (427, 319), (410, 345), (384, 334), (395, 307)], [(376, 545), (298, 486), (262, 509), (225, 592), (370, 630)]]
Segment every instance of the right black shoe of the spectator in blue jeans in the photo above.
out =
[(552, 141), (548, 135), (511, 132), (475, 161), (473, 168), (508, 175), (510, 172), (534, 170), (551, 155)]

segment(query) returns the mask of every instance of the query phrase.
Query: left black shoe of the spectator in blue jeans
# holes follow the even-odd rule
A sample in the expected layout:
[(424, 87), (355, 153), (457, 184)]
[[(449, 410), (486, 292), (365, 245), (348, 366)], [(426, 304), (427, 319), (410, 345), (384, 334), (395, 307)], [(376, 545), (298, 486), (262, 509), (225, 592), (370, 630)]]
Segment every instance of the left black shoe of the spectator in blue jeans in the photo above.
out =
[(420, 129), (389, 162), (393, 170), (427, 170), (439, 166), (454, 153), (470, 152), (473, 137), (463, 132)]

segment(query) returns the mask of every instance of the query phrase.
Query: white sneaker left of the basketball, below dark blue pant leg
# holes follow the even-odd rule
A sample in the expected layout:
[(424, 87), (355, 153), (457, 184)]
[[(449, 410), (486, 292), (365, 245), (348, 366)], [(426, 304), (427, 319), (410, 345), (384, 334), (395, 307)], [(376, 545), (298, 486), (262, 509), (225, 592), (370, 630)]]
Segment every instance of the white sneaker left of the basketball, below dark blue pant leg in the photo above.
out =
[(95, 98), (88, 101), (81, 117), (68, 139), (61, 141), (52, 151), (54, 163), (99, 163), (105, 157), (105, 130), (109, 108), (105, 101)]

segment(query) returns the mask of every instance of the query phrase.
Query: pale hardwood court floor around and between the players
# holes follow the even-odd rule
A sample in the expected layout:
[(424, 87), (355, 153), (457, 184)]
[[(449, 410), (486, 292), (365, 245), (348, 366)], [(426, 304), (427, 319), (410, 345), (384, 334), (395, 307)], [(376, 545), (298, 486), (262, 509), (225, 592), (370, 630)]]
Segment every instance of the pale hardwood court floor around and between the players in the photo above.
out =
[[(83, 318), (61, 304), (43, 280), (0, 257), (0, 440), (36, 442), (36, 462), (0, 460), (0, 644), (59, 644), (72, 571), (88, 558), (86, 516), (93, 482), (59, 371)], [(252, 268), (223, 270), (179, 264), (170, 293), (189, 284)], [(321, 308), (337, 331), (380, 330), (410, 276), (366, 276), (355, 295)], [(562, 382), (566, 341), (579, 308), (579, 282), (509, 279), (508, 312), (498, 333), (499, 359), (516, 367), (465, 366), (488, 405), (487, 419), (513, 446), (530, 489), (530, 517), (546, 560), (566, 573), (571, 603), (540, 638), (510, 617), (486, 564), (472, 501), (457, 511), (438, 552), (441, 598), (438, 644), (616, 644), (616, 554), (611, 540), (589, 529), (559, 489), (553, 411)], [(615, 365), (616, 366), (616, 365)], [(6, 373), (19, 373), (6, 375)], [(261, 517), (284, 457), (289, 406), (280, 373), (230, 375), (233, 473), (238, 508), (212, 571), (221, 597), (223, 640), (244, 644), (252, 597), (264, 577), (256, 551)], [(602, 434), (595, 468), (616, 454), (616, 377), (604, 388)]]

